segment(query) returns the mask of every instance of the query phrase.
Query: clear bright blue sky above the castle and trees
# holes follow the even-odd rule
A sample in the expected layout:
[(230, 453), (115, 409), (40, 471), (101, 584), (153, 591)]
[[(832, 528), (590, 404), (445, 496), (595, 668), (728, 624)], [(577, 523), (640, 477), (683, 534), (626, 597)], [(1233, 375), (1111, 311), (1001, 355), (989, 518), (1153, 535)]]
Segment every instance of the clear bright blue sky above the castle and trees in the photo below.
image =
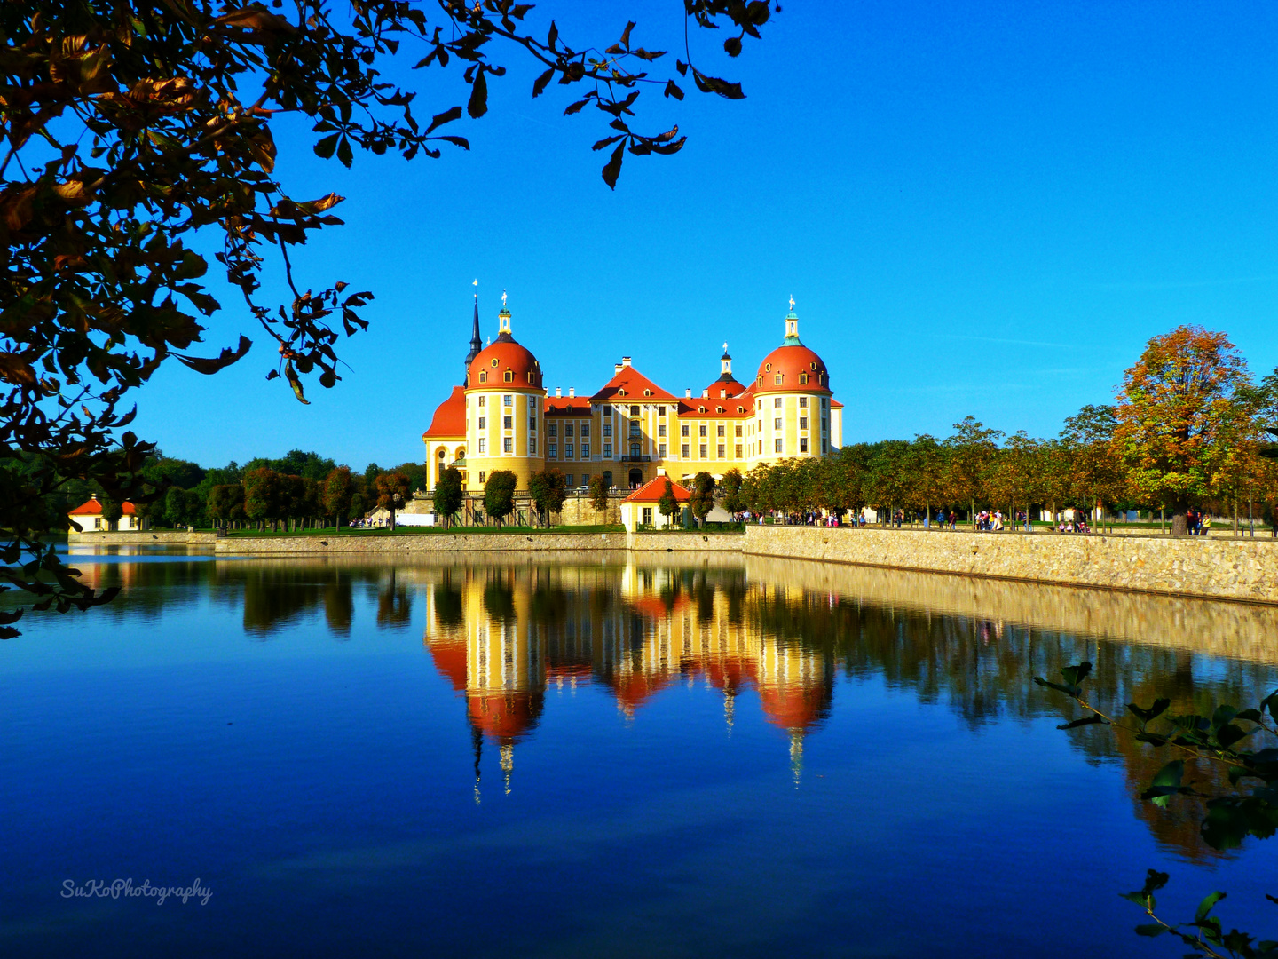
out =
[[(681, 6), (553, 14), (601, 46), (629, 15), (633, 42), (674, 50)], [(138, 432), (206, 465), (290, 448), (358, 467), (420, 459), (460, 381), (477, 277), (484, 335), (505, 288), (547, 385), (579, 394), (622, 354), (699, 390), (725, 340), (745, 381), (792, 294), (849, 442), (943, 436), (969, 413), (1054, 435), (1182, 322), (1226, 330), (1256, 373), (1278, 364), (1278, 8), (782, 6), (735, 61), (722, 31), (693, 33), (703, 69), (748, 98), (642, 96), (639, 127), (677, 120), (689, 142), (627, 156), (616, 192), (589, 150), (602, 120), (560, 116), (575, 97), (555, 86), (530, 100), (535, 72), (512, 56), (489, 114), (452, 125), (470, 152), (357, 156), (348, 171), (281, 124), (294, 196), (348, 198), (348, 225), (300, 253), (302, 281), (377, 295), (369, 331), (343, 347), (353, 368), (298, 404), (266, 382), (273, 354), (226, 293), (210, 352), (242, 329), (253, 352), (212, 378), (161, 372), (137, 394)], [(550, 12), (529, 22), (543, 29)], [(465, 102), (451, 69), (403, 75), (420, 115)]]

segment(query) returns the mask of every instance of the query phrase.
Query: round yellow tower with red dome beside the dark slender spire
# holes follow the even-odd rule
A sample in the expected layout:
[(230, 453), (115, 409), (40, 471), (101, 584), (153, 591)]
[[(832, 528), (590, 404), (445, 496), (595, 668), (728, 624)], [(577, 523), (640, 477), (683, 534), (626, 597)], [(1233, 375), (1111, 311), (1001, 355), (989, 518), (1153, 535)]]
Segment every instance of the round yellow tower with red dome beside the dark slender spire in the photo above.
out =
[(537, 357), (510, 335), (505, 293), (497, 325), (497, 339), (466, 368), (466, 478), (478, 491), (493, 471), (509, 469), (519, 477), (518, 488), (527, 490), (546, 462), (546, 387)]

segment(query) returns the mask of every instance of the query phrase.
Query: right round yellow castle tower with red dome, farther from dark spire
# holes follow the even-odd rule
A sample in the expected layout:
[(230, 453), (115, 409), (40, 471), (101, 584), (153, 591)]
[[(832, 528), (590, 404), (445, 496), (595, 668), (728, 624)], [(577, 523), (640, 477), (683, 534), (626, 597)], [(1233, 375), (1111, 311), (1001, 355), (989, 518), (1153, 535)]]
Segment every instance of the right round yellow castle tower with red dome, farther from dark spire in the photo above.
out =
[(832, 448), (829, 372), (799, 340), (799, 316), (790, 299), (786, 338), (759, 363), (751, 390), (754, 428), (750, 462), (824, 456)]

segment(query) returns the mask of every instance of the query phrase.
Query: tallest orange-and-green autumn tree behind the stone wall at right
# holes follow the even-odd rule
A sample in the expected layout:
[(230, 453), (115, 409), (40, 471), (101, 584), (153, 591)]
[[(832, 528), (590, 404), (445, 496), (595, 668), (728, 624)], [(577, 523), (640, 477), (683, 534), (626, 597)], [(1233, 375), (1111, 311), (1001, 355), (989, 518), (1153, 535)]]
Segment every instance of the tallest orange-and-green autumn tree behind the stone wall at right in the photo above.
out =
[(1178, 326), (1154, 336), (1118, 393), (1113, 449), (1137, 496), (1172, 510), (1186, 532), (1190, 505), (1212, 495), (1213, 476), (1254, 436), (1251, 377), (1223, 332)]

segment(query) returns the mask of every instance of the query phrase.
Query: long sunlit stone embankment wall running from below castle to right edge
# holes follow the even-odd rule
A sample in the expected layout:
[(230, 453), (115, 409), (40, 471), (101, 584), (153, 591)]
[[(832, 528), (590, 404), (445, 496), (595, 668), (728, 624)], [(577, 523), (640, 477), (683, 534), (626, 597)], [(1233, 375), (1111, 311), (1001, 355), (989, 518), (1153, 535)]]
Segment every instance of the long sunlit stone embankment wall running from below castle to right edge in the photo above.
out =
[(1278, 604), (1278, 543), (1265, 540), (751, 526), (745, 552)]

